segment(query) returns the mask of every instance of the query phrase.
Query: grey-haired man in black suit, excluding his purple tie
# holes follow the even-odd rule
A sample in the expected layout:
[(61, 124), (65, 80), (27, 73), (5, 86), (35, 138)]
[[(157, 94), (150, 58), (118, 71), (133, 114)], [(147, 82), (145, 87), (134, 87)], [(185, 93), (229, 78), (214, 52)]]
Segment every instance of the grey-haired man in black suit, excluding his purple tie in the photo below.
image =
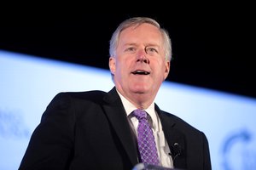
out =
[(125, 20), (113, 32), (109, 68), (115, 87), (108, 93), (61, 93), (32, 134), (21, 169), (129, 169), (143, 161), (139, 121), (147, 112), (159, 166), (211, 169), (204, 133), (154, 104), (170, 71), (171, 40), (150, 18)]

